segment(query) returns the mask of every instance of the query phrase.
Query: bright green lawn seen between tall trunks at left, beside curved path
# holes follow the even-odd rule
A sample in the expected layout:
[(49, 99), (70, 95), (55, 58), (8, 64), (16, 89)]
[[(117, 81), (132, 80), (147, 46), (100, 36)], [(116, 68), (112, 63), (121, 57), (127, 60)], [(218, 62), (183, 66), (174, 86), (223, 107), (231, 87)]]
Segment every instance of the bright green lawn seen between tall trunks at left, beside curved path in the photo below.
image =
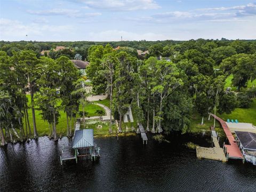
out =
[[(28, 100), (29, 100), (29, 106), (30, 106), (30, 95), (27, 95)], [(59, 102), (60, 105), (61, 101)], [(82, 111), (82, 107), (79, 107), (79, 110)], [(97, 110), (103, 110), (103, 108), (101, 108), (100, 106), (97, 105), (93, 105), (93, 104), (88, 104), (85, 106), (85, 111), (87, 111), (89, 113), (89, 116), (97, 116), (97, 114), (95, 114), (95, 112)], [(49, 135), (50, 134), (50, 130), (49, 130), (49, 125), (47, 122), (45, 122), (41, 115), (40, 115), (41, 111), (39, 110), (35, 110), (35, 115), (36, 115), (36, 126), (37, 126), (37, 132), (39, 136), (43, 136), (43, 135)], [(33, 121), (32, 121), (32, 112), (31, 109), (28, 110), (28, 114), (29, 114), (29, 124), (31, 126), (31, 131), (33, 131)], [(78, 115), (77, 115), (78, 117)], [(75, 123), (75, 119), (73, 119), (73, 125)], [(60, 118), (59, 118), (59, 123), (57, 124), (57, 133), (58, 135), (66, 135), (67, 134), (67, 117), (66, 117), (66, 113), (61, 110), (60, 111)]]

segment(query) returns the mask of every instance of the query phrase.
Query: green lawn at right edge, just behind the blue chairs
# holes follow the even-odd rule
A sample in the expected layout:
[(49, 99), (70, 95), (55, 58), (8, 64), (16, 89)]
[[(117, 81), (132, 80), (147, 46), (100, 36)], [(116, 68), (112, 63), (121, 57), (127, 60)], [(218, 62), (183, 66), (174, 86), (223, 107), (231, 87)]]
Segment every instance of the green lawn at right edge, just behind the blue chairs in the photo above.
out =
[(227, 119), (237, 119), (241, 123), (252, 123), (256, 125), (256, 99), (248, 109), (236, 108), (231, 114), (219, 115), (222, 119), (227, 121)]

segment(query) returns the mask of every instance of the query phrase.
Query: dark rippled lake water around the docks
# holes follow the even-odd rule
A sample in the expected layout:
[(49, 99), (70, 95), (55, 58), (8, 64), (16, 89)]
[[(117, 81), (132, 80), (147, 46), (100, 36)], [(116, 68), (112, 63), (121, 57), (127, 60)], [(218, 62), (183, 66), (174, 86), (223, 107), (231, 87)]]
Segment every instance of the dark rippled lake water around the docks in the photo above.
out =
[(184, 143), (202, 136), (172, 135), (170, 143), (137, 137), (96, 138), (99, 162), (60, 165), (71, 140), (47, 137), (0, 148), (0, 191), (256, 191), (256, 167), (242, 161), (199, 160)]

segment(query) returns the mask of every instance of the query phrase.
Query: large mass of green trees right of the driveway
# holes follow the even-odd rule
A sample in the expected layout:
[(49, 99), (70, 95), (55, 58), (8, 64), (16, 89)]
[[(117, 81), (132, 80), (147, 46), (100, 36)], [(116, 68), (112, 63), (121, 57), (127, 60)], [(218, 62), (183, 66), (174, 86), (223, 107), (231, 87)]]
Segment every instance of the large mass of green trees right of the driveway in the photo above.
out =
[[(255, 78), (254, 45), (241, 42), (219, 47), (214, 41), (189, 41), (162, 49), (154, 44), (143, 61), (110, 45), (93, 45), (88, 50), (90, 66), (86, 73), (96, 93), (110, 95), (119, 131), (122, 116), (131, 106), (135, 118), (148, 131), (162, 132), (164, 128), (186, 132), (192, 114), (201, 115), (203, 124), (204, 117), (214, 110), (222, 114), (246, 107), (241, 94), (247, 93), (236, 95), (225, 89), (230, 74), (238, 91)], [(164, 51), (169, 52), (171, 61), (157, 59)]]

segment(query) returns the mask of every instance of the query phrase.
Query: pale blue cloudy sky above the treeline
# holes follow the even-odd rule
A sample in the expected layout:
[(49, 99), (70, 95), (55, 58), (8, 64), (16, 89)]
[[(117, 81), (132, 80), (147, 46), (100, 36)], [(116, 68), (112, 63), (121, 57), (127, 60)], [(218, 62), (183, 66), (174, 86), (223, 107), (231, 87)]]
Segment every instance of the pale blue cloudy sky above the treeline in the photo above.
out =
[(0, 0), (0, 41), (256, 39), (256, 0)]

